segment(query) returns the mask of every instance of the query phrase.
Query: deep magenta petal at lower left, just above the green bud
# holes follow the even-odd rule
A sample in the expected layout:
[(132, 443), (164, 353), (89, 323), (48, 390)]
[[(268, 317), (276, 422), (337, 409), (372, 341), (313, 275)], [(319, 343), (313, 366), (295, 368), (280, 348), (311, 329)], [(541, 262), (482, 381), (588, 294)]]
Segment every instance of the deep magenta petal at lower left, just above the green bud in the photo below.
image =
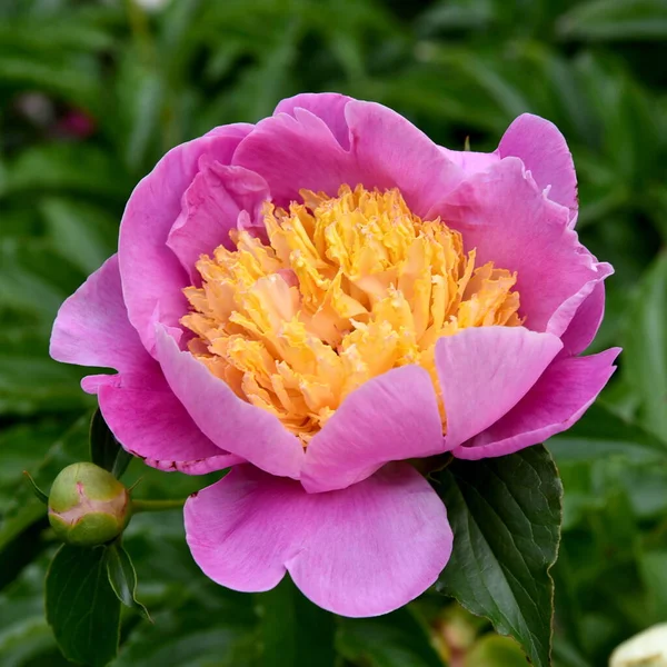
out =
[(102, 416), (123, 448), (153, 468), (188, 475), (241, 462), (199, 430), (151, 361), (156, 368), (143, 381), (115, 378), (99, 387)]

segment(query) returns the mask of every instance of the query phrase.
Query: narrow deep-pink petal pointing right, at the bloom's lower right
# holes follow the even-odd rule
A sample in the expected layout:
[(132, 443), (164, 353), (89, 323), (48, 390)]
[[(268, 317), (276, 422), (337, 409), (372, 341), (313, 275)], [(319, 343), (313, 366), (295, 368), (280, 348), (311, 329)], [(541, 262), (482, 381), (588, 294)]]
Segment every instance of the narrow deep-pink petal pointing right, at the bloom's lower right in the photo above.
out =
[(505, 417), (454, 450), (464, 459), (504, 456), (542, 442), (584, 415), (616, 369), (613, 348), (590, 357), (555, 361)]

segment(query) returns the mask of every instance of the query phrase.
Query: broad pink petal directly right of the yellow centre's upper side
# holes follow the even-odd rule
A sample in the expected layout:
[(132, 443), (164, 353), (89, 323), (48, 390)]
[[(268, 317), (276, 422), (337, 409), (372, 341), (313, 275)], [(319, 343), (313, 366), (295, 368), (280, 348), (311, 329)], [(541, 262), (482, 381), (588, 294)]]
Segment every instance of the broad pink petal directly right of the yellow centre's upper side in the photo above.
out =
[[(446, 195), (431, 215), (477, 248), (477, 263), (517, 271), (526, 327), (560, 336), (583, 288), (608, 275), (571, 229), (569, 212), (547, 199), (517, 158), (505, 158)], [(593, 285), (593, 282), (591, 282)]]

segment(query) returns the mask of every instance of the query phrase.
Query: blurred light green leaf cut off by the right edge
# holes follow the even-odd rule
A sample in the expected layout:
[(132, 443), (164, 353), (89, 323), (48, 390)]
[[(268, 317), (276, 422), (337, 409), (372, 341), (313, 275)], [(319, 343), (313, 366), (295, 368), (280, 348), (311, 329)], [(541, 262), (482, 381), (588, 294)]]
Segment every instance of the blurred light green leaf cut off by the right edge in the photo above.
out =
[(627, 313), (624, 374), (641, 400), (646, 426), (667, 441), (667, 253), (646, 273)]

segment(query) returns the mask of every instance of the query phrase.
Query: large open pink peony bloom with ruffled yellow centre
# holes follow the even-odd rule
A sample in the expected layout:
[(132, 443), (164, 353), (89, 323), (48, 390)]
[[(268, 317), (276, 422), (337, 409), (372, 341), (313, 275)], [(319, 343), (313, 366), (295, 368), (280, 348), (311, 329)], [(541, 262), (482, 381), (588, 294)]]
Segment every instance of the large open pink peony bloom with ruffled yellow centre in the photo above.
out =
[(82, 385), (148, 465), (232, 467), (185, 510), (211, 579), (260, 591), (289, 570), (326, 609), (382, 614), (451, 552), (408, 461), (540, 442), (614, 370), (618, 350), (578, 356), (611, 267), (576, 219), (546, 120), (458, 152), (380, 104), (297, 96), (165, 156), (51, 355), (118, 371)]

